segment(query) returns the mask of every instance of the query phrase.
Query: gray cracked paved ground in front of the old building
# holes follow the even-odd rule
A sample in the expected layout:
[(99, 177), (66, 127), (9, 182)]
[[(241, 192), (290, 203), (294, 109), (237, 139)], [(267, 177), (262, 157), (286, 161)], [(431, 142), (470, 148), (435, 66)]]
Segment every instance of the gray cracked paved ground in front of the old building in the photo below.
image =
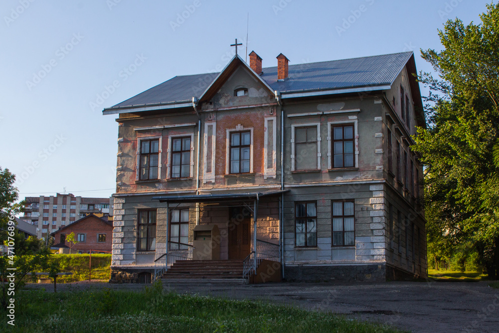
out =
[[(485, 282), (387, 282), (326, 285), (279, 283), (244, 285), (240, 281), (169, 281), (165, 289), (235, 299), (257, 299), (305, 309), (331, 311), (363, 321), (381, 322), (411, 332), (499, 332), (499, 290)], [(53, 291), (53, 285), (33, 285)], [(94, 288), (132, 289), (144, 285), (58, 284), (57, 291)]]

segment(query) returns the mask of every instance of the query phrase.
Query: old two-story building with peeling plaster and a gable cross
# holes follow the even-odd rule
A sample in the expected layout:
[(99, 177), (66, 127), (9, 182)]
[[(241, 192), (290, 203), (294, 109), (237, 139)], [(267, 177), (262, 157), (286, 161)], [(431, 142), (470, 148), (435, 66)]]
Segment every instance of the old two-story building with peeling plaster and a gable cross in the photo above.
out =
[(288, 61), (236, 55), (104, 109), (118, 115), (111, 281), (218, 277), (221, 261), (246, 278), (262, 263), (288, 281), (427, 276), (414, 54)]

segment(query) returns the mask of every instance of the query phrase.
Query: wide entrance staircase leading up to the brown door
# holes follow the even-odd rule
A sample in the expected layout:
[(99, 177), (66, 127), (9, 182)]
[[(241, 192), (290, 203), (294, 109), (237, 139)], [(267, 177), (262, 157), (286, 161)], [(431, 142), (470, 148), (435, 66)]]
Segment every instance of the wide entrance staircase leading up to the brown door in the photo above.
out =
[(177, 260), (162, 279), (242, 279), (242, 260)]

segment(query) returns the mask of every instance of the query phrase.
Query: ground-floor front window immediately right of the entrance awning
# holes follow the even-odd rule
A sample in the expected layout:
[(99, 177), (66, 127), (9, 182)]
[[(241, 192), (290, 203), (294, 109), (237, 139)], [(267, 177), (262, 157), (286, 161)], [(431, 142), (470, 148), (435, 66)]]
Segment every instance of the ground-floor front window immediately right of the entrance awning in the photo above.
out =
[(295, 205), (296, 246), (317, 246), (317, 203)]

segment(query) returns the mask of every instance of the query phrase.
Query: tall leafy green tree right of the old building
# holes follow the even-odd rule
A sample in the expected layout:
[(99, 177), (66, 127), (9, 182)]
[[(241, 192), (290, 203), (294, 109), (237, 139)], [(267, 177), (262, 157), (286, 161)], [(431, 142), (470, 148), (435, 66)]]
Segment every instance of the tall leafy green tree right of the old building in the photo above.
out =
[(448, 20), (443, 50), (422, 51), (437, 71), (420, 81), (427, 129), (416, 146), (426, 166), (428, 241), (434, 254), (478, 252), (491, 279), (499, 276), (499, 4), (487, 5), (482, 22)]

